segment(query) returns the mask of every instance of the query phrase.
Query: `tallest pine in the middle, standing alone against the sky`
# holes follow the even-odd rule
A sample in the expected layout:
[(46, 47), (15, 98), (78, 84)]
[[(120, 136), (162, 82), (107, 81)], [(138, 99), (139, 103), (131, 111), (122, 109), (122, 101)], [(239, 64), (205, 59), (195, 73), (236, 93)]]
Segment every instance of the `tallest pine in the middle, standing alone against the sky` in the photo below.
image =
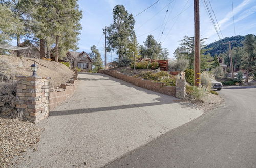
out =
[[(113, 24), (106, 27), (106, 39), (108, 48), (116, 50), (120, 60), (127, 54), (129, 37), (134, 34), (135, 20), (123, 5), (116, 5), (113, 9), (113, 21)], [(105, 32), (104, 29), (103, 31)]]

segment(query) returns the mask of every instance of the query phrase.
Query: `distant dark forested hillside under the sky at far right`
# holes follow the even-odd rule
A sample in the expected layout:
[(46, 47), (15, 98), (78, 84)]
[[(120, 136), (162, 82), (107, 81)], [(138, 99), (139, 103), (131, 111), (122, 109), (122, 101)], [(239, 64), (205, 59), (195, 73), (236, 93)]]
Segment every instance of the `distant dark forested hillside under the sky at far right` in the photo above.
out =
[[(205, 54), (210, 53), (211, 56), (219, 55), (220, 53), (225, 53), (229, 49), (228, 42), (232, 41), (231, 43), (231, 48), (234, 47), (242, 47), (243, 46), (243, 41), (245, 39), (245, 36), (232, 36), (232, 37), (226, 37), (224, 39), (218, 40), (214, 43), (208, 44), (205, 49), (210, 49), (209, 51), (206, 51)], [(224, 45), (223, 45), (224, 43)]]

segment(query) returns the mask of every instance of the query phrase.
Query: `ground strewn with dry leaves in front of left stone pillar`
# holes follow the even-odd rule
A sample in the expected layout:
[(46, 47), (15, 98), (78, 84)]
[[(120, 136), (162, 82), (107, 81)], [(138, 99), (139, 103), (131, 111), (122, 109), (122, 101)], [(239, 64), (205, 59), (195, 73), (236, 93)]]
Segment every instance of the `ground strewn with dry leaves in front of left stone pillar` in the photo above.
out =
[(0, 167), (14, 165), (14, 158), (39, 141), (41, 131), (28, 121), (0, 118)]

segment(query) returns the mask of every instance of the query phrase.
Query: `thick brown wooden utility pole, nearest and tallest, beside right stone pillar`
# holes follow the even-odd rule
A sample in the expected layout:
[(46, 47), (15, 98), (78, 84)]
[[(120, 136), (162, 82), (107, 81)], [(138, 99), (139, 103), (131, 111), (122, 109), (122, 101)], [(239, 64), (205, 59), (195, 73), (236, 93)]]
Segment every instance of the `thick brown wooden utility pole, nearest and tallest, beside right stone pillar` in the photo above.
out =
[(194, 24), (195, 24), (195, 63), (194, 63), (194, 81), (195, 86), (201, 84), (201, 71), (200, 71), (200, 18), (199, 18), (199, 0), (194, 0)]

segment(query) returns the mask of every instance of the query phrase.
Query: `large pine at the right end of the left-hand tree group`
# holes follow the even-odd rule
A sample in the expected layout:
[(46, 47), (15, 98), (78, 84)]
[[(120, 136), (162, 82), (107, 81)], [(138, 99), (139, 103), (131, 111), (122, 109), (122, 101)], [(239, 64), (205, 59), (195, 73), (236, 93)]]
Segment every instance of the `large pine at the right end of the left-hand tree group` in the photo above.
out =
[(59, 55), (65, 55), (69, 50), (76, 50), (79, 40), (82, 11), (78, 9), (77, 0), (45, 0), (49, 5), (52, 33), (55, 36), (55, 61), (58, 62)]

